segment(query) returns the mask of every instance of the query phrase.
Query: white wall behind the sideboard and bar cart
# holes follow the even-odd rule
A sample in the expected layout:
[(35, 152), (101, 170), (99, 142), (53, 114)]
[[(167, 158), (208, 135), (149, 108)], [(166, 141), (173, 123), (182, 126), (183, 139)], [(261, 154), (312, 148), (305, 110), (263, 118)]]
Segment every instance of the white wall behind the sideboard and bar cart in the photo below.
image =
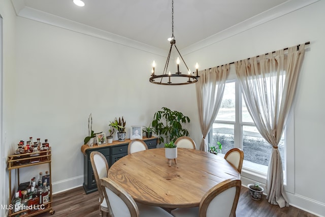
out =
[[(129, 137), (130, 126), (148, 125), (163, 106), (186, 115), (192, 109), (183, 105), (194, 86), (149, 82), (152, 60), (163, 70), (165, 57), (21, 17), (16, 31), (13, 138), (49, 139), (54, 193), (83, 183), (80, 147), (90, 112), (93, 130), (105, 133), (123, 115)], [(21, 169), (21, 178), (40, 170)]]

